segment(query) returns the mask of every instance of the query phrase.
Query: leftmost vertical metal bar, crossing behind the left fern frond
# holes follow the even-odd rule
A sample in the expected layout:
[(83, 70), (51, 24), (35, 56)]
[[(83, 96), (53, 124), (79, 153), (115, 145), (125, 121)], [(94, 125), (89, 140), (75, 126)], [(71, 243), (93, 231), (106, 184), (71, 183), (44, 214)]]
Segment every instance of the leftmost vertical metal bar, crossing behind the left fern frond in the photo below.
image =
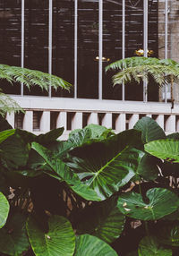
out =
[[(21, 67), (24, 67), (24, 13), (25, 0), (21, 0)], [(23, 82), (21, 82), (21, 96), (23, 96)]]

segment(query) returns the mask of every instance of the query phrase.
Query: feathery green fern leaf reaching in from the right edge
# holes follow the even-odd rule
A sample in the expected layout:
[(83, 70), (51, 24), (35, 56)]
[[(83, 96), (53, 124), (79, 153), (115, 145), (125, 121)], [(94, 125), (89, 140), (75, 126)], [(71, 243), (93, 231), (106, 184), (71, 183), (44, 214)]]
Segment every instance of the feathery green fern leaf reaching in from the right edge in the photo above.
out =
[(115, 84), (130, 82), (138, 83), (148, 81), (149, 75), (161, 86), (171, 81), (179, 81), (179, 64), (171, 59), (159, 60), (158, 58), (130, 57), (116, 61), (106, 67), (108, 70), (120, 70), (113, 76)]

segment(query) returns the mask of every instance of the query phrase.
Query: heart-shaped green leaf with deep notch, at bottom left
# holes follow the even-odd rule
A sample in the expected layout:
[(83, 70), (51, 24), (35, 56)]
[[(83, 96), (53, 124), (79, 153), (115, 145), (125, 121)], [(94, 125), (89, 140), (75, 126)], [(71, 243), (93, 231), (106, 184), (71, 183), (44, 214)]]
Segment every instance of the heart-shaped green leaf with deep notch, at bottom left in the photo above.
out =
[(52, 216), (48, 221), (49, 230), (45, 234), (33, 218), (27, 221), (30, 244), (36, 256), (72, 256), (75, 235), (71, 223), (64, 217)]

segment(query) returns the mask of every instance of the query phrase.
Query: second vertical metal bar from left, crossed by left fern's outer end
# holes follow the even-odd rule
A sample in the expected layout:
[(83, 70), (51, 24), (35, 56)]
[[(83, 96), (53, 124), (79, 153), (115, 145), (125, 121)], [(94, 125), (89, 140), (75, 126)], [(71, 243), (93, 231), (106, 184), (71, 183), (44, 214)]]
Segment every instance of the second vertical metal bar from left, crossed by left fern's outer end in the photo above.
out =
[[(52, 19), (53, 19), (53, 0), (49, 0), (48, 7), (48, 73), (52, 74)], [(52, 88), (49, 84), (48, 97), (52, 97)]]

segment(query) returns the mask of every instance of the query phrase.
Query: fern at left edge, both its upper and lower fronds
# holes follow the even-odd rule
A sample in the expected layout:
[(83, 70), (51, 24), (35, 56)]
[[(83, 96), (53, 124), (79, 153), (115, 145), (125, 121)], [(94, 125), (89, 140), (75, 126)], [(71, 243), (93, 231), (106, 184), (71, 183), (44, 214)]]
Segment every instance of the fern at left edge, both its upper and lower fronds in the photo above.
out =
[[(29, 89), (38, 86), (41, 90), (48, 90), (51, 85), (55, 90), (61, 87), (70, 90), (71, 84), (55, 75), (43, 73), (36, 70), (0, 64), (0, 80), (23, 83)], [(22, 111), (21, 107), (13, 98), (3, 93), (0, 89), (0, 115)]]

